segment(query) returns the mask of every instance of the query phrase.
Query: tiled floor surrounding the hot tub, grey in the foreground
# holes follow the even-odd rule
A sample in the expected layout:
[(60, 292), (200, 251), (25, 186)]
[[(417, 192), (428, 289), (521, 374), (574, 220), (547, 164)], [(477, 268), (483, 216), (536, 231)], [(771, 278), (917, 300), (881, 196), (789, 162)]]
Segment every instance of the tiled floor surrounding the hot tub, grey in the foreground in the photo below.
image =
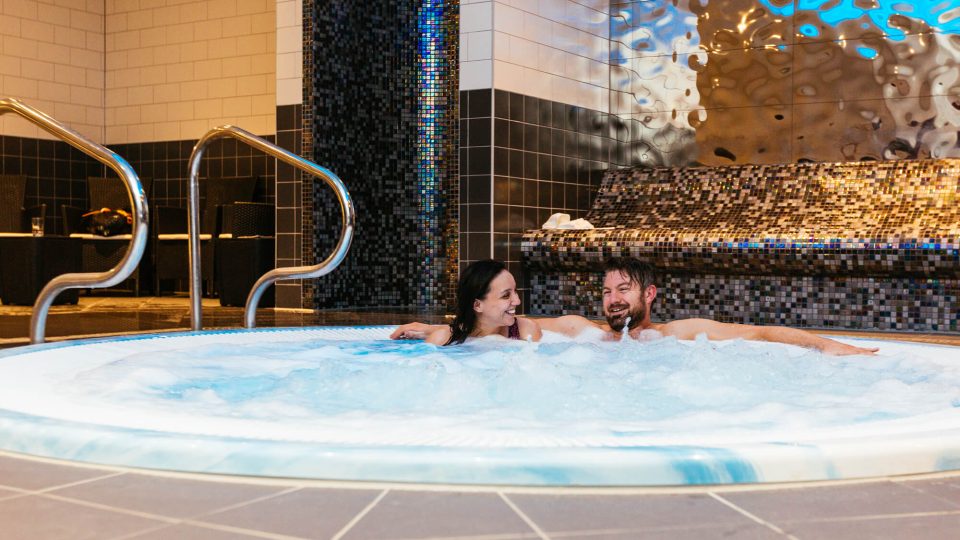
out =
[[(205, 324), (242, 310), (205, 300)], [(26, 343), (29, 308), (0, 306), (0, 346)], [(261, 310), (259, 326), (439, 322), (405, 310)], [(187, 300), (85, 297), (48, 335), (187, 329)], [(897, 335), (944, 344), (960, 336)], [(957, 538), (960, 474), (718, 488), (524, 489), (185, 475), (0, 452), (0, 538)]]

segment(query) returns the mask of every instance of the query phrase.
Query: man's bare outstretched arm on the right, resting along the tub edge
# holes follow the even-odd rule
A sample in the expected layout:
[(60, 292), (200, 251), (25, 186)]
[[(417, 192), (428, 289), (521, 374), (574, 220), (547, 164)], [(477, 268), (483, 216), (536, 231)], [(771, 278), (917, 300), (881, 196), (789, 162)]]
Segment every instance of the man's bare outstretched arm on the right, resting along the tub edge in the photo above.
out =
[(683, 319), (664, 324), (660, 330), (665, 336), (674, 336), (678, 339), (694, 339), (699, 334), (706, 334), (713, 340), (725, 339), (752, 339), (757, 341), (771, 341), (799, 345), (811, 349), (819, 349), (826, 354), (845, 356), (849, 354), (873, 354), (879, 349), (854, 347), (839, 341), (818, 336), (806, 330), (787, 328), (785, 326), (752, 326), (749, 324), (731, 324), (712, 321), (710, 319)]

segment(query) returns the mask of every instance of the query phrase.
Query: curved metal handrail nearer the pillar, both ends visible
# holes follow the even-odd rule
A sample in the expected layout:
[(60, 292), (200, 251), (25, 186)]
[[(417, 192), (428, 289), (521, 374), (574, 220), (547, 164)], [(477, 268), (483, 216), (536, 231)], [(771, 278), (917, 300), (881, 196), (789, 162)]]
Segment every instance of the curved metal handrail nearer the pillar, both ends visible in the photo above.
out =
[(236, 126), (224, 125), (218, 126), (208, 131), (193, 147), (190, 154), (190, 185), (187, 191), (189, 221), (187, 224), (188, 245), (190, 251), (190, 327), (193, 330), (200, 330), (202, 327), (202, 314), (200, 304), (200, 197), (199, 197), (199, 178), (200, 178), (200, 160), (203, 158), (203, 152), (210, 142), (216, 139), (232, 137), (247, 145), (271, 155), (288, 165), (292, 165), (301, 171), (320, 178), (337, 194), (340, 201), (340, 214), (343, 218), (343, 228), (340, 230), (340, 240), (336, 248), (323, 262), (314, 266), (291, 266), (288, 268), (274, 268), (266, 274), (260, 276), (260, 279), (253, 285), (250, 294), (247, 296), (247, 305), (244, 308), (244, 326), (253, 328), (256, 326), (257, 304), (260, 303), (260, 297), (267, 287), (282, 279), (310, 279), (318, 278), (329, 274), (347, 255), (350, 249), (350, 242), (353, 240), (353, 228), (356, 214), (353, 209), (353, 201), (350, 199), (350, 193), (344, 187), (343, 182), (337, 175), (328, 169), (303, 159), (302, 157), (284, 150), (279, 146), (257, 137), (253, 133)]

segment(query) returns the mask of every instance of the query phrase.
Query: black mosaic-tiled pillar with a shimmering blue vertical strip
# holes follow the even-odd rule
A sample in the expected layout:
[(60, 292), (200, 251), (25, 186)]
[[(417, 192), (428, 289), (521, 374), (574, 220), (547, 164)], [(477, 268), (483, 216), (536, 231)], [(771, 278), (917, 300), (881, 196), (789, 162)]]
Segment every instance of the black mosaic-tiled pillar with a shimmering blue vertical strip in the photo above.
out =
[[(304, 307), (445, 305), (457, 250), (458, 10), (455, 0), (305, 2), (303, 150), (344, 181), (357, 226), (341, 267), (305, 284)], [(311, 264), (341, 220), (329, 189), (303, 192)]]

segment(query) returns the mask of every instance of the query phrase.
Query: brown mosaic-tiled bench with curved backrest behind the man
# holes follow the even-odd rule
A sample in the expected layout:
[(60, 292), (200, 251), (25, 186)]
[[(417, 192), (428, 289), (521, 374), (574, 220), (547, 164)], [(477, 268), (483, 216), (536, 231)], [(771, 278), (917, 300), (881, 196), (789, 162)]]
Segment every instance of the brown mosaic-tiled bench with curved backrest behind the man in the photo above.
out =
[[(666, 272), (664, 319), (956, 331), (960, 160), (634, 169), (588, 220), (530, 231), (537, 314), (599, 315), (611, 256)], [(784, 277), (789, 276), (789, 277)]]

